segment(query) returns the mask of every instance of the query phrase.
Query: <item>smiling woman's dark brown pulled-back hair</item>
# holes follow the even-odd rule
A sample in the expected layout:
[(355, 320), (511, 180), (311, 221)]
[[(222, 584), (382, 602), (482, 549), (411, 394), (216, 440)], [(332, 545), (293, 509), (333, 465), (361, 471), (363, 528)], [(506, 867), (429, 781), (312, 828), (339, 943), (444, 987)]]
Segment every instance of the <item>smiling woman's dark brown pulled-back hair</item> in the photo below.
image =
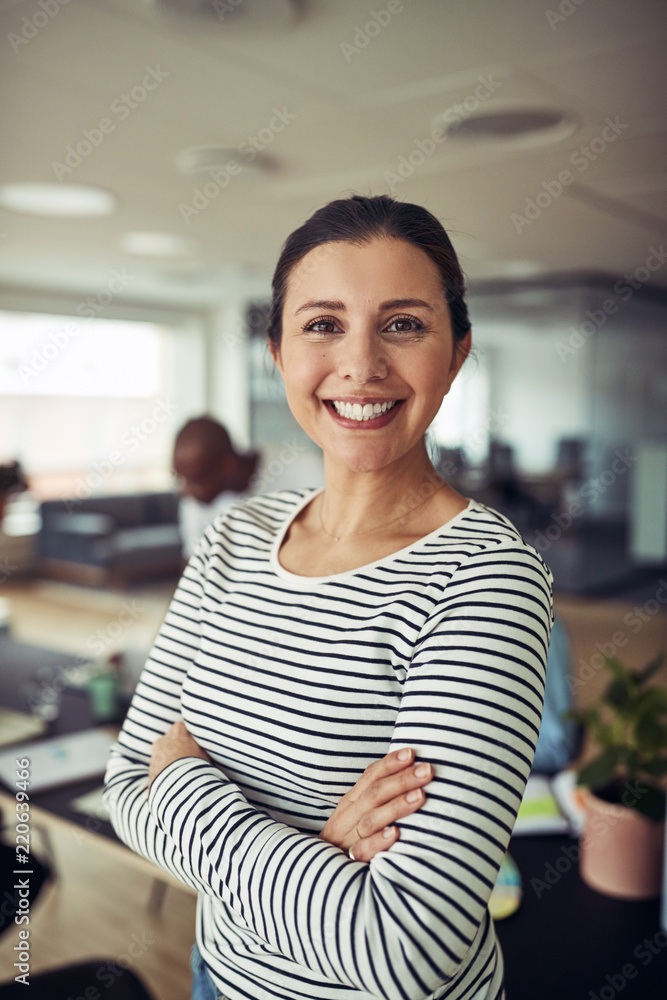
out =
[(441, 223), (420, 205), (395, 201), (386, 194), (374, 198), (355, 194), (351, 198), (330, 201), (319, 208), (285, 241), (273, 275), (273, 298), (267, 327), (274, 350), (280, 347), (282, 337), (287, 282), (299, 261), (325, 243), (362, 244), (382, 237), (403, 240), (431, 258), (442, 279), (454, 343), (463, 340), (470, 329), (465, 281), (454, 247)]

